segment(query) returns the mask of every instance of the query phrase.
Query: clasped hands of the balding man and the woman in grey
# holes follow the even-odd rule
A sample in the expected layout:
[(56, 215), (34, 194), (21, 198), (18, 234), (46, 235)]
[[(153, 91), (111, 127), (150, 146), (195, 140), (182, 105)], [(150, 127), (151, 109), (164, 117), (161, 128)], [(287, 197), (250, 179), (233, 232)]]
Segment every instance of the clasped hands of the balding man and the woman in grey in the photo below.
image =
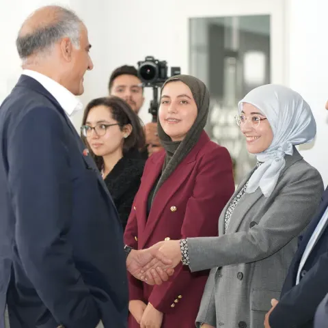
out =
[(133, 249), (126, 259), (126, 268), (137, 279), (160, 285), (174, 274), (181, 259), (180, 241), (161, 241), (148, 249)]

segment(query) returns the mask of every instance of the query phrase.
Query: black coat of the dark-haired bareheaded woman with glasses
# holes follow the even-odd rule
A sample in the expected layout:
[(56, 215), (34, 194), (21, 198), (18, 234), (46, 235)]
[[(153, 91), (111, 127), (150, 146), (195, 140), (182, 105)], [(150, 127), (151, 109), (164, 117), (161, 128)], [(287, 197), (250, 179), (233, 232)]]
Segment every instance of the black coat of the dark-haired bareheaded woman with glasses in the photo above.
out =
[(123, 156), (105, 178), (105, 184), (118, 209), (123, 230), (140, 186), (145, 162), (139, 152), (130, 153)]

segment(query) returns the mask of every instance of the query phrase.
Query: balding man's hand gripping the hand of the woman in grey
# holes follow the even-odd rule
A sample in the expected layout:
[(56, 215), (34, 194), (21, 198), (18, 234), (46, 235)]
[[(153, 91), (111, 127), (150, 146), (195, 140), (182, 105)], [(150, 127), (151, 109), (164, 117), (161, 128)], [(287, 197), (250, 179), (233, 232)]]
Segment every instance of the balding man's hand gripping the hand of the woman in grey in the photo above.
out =
[[(161, 243), (159, 243), (157, 247), (161, 247)], [(155, 278), (150, 277), (147, 279), (147, 283), (150, 285), (160, 285), (162, 282), (166, 282), (170, 275), (173, 275), (174, 270), (172, 269), (172, 260), (169, 260), (163, 254), (156, 253), (156, 247), (141, 249), (139, 251), (133, 249), (130, 254), (128, 254), (128, 258), (126, 259), (126, 268), (131, 275), (137, 279), (141, 279), (141, 269), (145, 267), (146, 264), (154, 260), (156, 256), (157, 267), (161, 267), (161, 270), (159, 270), (160, 273), (159, 275), (156, 275)]]

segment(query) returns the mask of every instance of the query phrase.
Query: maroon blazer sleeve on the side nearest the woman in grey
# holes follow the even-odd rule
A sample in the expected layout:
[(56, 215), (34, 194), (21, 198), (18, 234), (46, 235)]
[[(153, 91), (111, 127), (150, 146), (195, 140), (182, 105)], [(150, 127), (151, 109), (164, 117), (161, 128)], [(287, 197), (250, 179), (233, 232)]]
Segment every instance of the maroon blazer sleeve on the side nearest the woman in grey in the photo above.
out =
[[(217, 234), (219, 215), (234, 192), (232, 161), (226, 148), (211, 150), (201, 161), (193, 195), (187, 202), (181, 238)], [(179, 264), (170, 282), (154, 286), (150, 303), (163, 313), (172, 311), (172, 299), (182, 295), (185, 288), (191, 288), (191, 279), (200, 274), (191, 273), (188, 267)]]

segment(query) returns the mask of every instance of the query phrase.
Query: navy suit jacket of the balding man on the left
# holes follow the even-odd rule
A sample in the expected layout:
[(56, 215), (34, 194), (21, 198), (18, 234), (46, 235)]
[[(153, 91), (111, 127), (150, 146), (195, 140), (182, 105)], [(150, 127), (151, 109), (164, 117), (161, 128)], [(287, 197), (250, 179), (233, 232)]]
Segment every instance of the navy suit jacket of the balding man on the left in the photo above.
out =
[(0, 107), (0, 316), (11, 328), (126, 327), (118, 213), (59, 103), (22, 75)]

